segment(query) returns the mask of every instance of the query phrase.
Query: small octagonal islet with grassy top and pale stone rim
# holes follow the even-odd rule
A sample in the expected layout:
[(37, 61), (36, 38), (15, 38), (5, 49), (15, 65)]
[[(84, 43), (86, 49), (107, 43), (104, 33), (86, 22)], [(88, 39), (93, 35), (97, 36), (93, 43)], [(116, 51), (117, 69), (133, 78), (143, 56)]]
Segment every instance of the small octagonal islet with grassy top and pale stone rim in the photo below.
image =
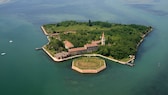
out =
[(98, 57), (80, 57), (72, 62), (72, 69), (80, 73), (98, 73), (105, 68), (105, 61)]

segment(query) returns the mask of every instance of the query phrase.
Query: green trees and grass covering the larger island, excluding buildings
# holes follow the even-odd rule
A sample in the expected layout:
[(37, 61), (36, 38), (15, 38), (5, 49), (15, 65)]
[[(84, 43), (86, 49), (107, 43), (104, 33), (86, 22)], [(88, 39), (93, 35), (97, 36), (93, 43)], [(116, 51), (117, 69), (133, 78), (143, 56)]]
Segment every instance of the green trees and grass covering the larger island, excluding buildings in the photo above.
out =
[[(52, 41), (48, 44), (50, 49), (56, 51), (65, 50), (62, 41), (69, 40), (75, 47), (83, 46), (92, 40), (99, 40), (104, 32), (106, 45), (99, 46), (96, 53), (111, 56), (115, 59), (123, 59), (134, 55), (137, 44), (151, 27), (136, 24), (114, 24), (95, 21), (77, 22), (64, 21), (56, 24), (44, 25), (44, 28), (52, 35)], [(54, 35), (53, 34), (58, 34)]]

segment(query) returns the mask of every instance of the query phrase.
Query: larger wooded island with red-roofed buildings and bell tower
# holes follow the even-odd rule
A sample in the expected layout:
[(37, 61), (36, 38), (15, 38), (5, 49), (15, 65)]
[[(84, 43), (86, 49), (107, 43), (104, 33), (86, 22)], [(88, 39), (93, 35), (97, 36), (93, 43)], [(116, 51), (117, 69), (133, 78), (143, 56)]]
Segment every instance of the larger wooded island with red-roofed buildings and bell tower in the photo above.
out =
[(151, 26), (103, 21), (62, 21), (41, 26), (48, 38), (42, 49), (57, 62), (76, 57), (102, 57), (133, 66), (139, 45)]

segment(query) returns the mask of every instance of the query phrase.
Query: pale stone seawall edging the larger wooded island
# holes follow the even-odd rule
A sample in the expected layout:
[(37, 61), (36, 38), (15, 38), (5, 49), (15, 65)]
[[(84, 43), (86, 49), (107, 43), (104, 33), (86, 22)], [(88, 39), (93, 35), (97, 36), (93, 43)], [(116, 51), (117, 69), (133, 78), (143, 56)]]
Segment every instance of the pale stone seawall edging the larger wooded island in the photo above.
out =
[[(46, 32), (46, 30), (44, 29), (43, 26), (41, 26), (41, 29), (42, 29), (43, 33), (47, 36), (48, 41), (50, 42), (50, 39), (49, 39), (49, 37), (48, 37), (49, 34)], [(141, 39), (140, 42), (137, 44), (137, 50), (138, 50), (140, 44), (144, 41), (144, 38), (145, 38), (152, 30), (153, 30), (153, 29), (151, 28), (150, 30), (148, 30), (148, 32), (147, 32), (146, 34), (144, 34), (144, 35), (142, 36), (142, 39)], [(48, 42), (48, 43), (49, 43), (49, 42)], [(48, 44), (48, 43), (47, 43), (47, 44)], [(117, 60), (117, 59), (114, 59), (114, 58), (110, 58), (110, 57), (107, 57), (107, 56), (103, 56), (103, 55), (101, 55), (101, 54), (81, 54), (81, 55), (70, 56), (70, 57), (63, 58), (63, 59), (57, 59), (57, 58), (55, 58), (54, 56), (52, 56), (52, 55), (45, 49), (45, 46), (46, 46), (46, 45), (44, 45), (44, 46), (42, 47), (42, 50), (43, 50), (44, 52), (46, 52), (47, 55), (48, 55), (53, 61), (55, 61), (55, 62), (62, 62), (62, 61), (66, 61), (66, 60), (70, 60), (70, 59), (74, 59), (74, 58), (82, 57), (82, 56), (89, 56), (89, 57), (94, 56), (94, 57), (101, 57), (101, 58), (104, 58), (104, 59), (107, 59), (107, 60), (111, 60), (111, 61), (113, 61), (113, 62), (120, 63), (120, 64), (123, 64), (123, 65), (128, 65), (128, 66), (134, 66), (134, 65), (135, 65), (135, 64), (134, 64), (134, 60), (135, 60), (135, 58), (136, 58), (135, 55), (131, 55), (131, 58), (130, 58), (128, 61), (126, 61), (126, 62), (120, 61), (120, 60)]]

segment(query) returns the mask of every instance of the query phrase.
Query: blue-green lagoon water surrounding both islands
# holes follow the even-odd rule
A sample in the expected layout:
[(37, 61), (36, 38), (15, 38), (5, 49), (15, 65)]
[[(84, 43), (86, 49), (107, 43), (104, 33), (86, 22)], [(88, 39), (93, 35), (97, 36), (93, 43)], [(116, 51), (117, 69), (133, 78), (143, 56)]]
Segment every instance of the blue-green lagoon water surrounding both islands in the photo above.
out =
[[(168, 1), (0, 0), (0, 95), (168, 95)], [(71, 70), (72, 60), (53, 62), (40, 26), (63, 20), (101, 20), (151, 25), (135, 67), (106, 60), (99, 74)], [(9, 41), (12, 40), (12, 43)]]

